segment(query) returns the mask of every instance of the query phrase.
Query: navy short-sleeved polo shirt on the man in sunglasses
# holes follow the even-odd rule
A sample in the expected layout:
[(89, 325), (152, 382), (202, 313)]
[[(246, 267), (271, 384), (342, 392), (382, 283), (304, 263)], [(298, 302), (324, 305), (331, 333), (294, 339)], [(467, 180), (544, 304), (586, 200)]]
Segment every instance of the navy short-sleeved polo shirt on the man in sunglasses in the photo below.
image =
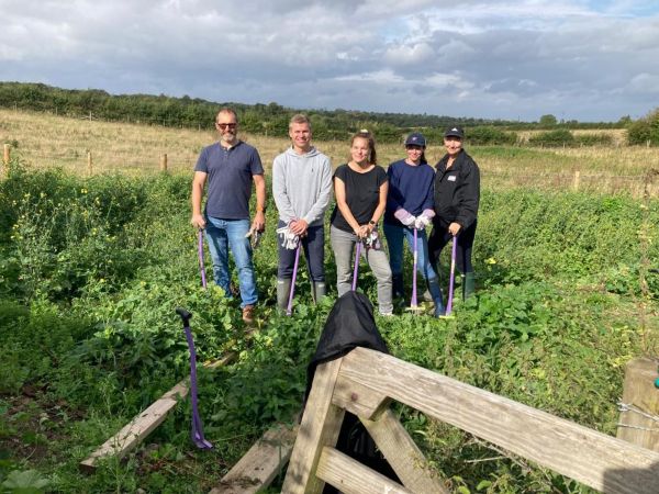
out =
[(264, 175), (255, 147), (238, 141), (226, 149), (220, 143), (204, 147), (194, 171), (208, 173), (205, 213), (222, 220), (249, 220), (252, 176)]

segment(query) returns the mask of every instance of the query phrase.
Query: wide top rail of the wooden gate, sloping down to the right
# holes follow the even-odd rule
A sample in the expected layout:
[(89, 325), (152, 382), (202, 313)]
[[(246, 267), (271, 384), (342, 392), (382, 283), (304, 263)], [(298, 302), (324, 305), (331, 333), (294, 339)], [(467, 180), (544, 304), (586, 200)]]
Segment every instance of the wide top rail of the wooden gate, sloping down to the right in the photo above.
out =
[(659, 492), (659, 453), (365, 348), (342, 378), (603, 492)]

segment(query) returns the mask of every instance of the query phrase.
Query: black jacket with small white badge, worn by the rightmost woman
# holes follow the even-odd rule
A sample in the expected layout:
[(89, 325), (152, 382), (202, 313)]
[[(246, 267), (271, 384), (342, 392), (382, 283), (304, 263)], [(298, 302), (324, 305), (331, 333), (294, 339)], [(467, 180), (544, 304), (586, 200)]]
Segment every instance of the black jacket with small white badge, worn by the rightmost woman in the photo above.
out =
[(453, 222), (463, 229), (476, 221), (480, 201), (480, 171), (476, 161), (460, 150), (447, 170), (448, 155), (435, 165), (435, 214), (436, 225), (446, 228)]

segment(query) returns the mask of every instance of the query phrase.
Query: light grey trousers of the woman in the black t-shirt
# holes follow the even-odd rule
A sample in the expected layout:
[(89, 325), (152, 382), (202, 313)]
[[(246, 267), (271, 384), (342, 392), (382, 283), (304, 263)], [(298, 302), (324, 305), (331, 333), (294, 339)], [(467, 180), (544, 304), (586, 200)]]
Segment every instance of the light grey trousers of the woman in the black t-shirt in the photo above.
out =
[[(338, 296), (351, 290), (353, 259), (355, 257), (355, 245), (357, 236), (343, 229), (330, 228), (330, 238), (334, 260), (336, 261), (336, 290)], [(378, 280), (378, 305), (380, 314), (391, 314), (393, 304), (391, 302), (391, 268), (389, 259), (382, 249), (361, 248), (361, 256), (370, 266), (376, 280)], [(359, 282), (358, 282), (359, 283)]]

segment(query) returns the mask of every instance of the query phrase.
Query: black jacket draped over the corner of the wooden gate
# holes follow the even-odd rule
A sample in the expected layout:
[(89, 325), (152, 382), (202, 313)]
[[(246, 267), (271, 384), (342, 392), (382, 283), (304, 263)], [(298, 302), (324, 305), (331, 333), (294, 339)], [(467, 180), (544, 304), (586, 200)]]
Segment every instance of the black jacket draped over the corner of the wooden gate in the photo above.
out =
[[(316, 351), (311, 362), (309, 362), (304, 405), (311, 392), (316, 367), (323, 362), (343, 357), (355, 347), (365, 347), (389, 353), (387, 344), (380, 336), (378, 326), (376, 326), (373, 306), (370, 301), (364, 293), (350, 291), (343, 294), (332, 307)], [(349, 412), (345, 414), (336, 441), (336, 449), (375, 471), (400, 482), (391, 465), (377, 450), (375, 441), (368, 435), (364, 425)], [(336, 492), (338, 491), (331, 485), (326, 485), (323, 491), (324, 494)]]

